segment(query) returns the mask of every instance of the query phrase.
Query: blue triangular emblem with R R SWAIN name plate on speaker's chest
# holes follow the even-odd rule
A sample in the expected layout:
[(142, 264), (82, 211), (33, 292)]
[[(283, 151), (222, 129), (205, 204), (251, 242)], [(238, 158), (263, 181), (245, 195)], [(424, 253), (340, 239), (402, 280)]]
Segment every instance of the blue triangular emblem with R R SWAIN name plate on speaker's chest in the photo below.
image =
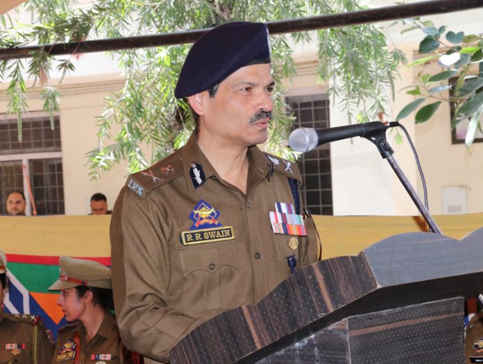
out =
[(188, 231), (181, 232), (180, 241), (183, 245), (211, 243), (235, 239), (233, 227), (223, 227), (218, 221), (220, 212), (209, 203), (199, 200), (189, 218), (193, 221)]

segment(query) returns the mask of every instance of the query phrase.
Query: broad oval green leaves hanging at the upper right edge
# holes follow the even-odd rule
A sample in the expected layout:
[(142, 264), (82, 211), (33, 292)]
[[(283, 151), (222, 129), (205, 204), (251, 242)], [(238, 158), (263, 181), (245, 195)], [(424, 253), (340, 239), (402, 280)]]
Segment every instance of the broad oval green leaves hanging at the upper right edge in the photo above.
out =
[(419, 44), (419, 53), (427, 54), (408, 64), (408, 67), (438, 60), (442, 71), (434, 74), (425, 71), (418, 73), (415, 85), (409, 87), (407, 94), (420, 97), (402, 108), (396, 119), (409, 116), (424, 101), (437, 100), (422, 106), (416, 113), (416, 123), (424, 123), (431, 119), (442, 101), (455, 103), (451, 125), (455, 128), (457, 123), (470, 120), (465, 139), (469, 148), (477, 130), (482, 130), (483, 35), (466, 35), (462, 31), (455, 33), (448, 31), (447, 26), (437, 28), (432, 21), (421, 21), (419, 18), (405, 19), (405, 23), (409, 26), (403, 32), (416, 29), (423, 31), (425, 37)]

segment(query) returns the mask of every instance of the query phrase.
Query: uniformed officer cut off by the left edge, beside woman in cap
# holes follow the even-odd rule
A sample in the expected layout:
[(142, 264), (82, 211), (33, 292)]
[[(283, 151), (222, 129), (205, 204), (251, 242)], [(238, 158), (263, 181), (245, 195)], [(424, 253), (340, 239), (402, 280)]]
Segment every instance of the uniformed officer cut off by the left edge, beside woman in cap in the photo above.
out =
[(3, 311), (7, 291), (7, 258), (0, 251), (0, 364), (49, 364), (53, 338), (38, 316)]

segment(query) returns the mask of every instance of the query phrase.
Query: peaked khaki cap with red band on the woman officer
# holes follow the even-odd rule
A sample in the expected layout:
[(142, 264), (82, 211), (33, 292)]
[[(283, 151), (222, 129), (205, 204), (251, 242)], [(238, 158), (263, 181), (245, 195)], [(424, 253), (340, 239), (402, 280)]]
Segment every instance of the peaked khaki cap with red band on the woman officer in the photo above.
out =
[(91, 286), (112, 289), (111, 272), (97, 261), (76, 259), (62, 255), (59, 259), (60, 276), (49, 287), (50, 291)]

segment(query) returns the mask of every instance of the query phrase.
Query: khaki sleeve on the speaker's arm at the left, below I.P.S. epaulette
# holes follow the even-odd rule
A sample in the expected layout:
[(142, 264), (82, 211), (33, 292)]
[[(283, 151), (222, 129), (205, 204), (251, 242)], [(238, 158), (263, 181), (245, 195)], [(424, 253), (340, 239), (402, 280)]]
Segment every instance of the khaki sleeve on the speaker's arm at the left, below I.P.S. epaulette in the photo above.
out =
[(110, 226), (112, 286), (124, 345), (156, 361), (201, 319), (168, 307), (169, 223), (148, 195), (126, 187), (119, 194)]

